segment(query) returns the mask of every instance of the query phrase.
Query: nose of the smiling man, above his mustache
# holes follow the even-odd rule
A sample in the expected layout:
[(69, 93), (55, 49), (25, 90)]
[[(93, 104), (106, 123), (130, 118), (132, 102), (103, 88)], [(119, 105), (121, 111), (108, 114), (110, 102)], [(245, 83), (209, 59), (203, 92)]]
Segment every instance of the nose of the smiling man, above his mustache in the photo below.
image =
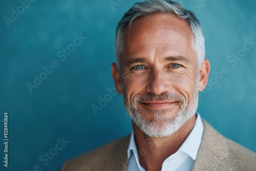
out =
[(156, 95), (169, 92), (170, 84), (167, 73), (163, 69), (154, 69), (148, 76), (146, 91)]

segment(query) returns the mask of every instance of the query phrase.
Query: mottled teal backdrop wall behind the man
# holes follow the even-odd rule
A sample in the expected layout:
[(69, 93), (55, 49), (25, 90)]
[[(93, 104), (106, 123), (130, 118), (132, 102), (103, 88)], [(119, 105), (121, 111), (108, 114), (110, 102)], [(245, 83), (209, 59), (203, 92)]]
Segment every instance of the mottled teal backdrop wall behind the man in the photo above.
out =
[[(114, 58), (115, 28), (136, 1), (35, 1), (20, 16), (7, 24), (11, 9), (19, 1), (1, 1), (0, 5), (0, 170), (60, 170), (62, 163), (79, 154), (131, 132), (131, 120), (125, 114), (122, 96), (114, 95), (95, 115), (92, 104), (109, 93), (114, 83), (111, 63)], [(256, 152), (256, 45), (237, 60), (245, 39), (256, 41), (256, 2), (181, 1), (197, 9), (204, 34), (206, 57), (211, 64), (214, 85), (200, 94), (198, 112), (224, 136)], [(73, 43), (75, 34), (87, 37), (67, 56), (57, 52)], [(42, 67), (55, 60), (47, 79), (30, 93)], [(226, 66), (228, 73), (216, 79), (212, 72)], [(215, 80), (214, 80), (215, 79)], [(107, 97), (108, 98), (108, 97)], [(110, 98), (110, 96), (109, 96)], [(3, 167), (3, 119), (9, 113), (9, 167)], [(54, 148), (57, 138), (69, 141), (49, 163), (39, 161)]]

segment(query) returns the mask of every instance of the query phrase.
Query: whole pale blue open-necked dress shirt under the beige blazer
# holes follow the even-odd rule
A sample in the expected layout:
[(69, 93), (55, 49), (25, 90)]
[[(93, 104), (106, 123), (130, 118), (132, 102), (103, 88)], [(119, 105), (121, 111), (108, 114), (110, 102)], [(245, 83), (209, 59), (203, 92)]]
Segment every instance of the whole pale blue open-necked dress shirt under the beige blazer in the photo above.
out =
[[(198, 149), (202, 141), (204, 125), (199, 113), (196, 113), (196, 123), (192, 131), (180, 146), (178, 151), (164, 160), (162, 171), (191, 170), (197, 157)], [(132, 131), (130, 144), (127, 150), (128, 162), (126, 171), (145, 171), (139, 163), (137, 146)]]

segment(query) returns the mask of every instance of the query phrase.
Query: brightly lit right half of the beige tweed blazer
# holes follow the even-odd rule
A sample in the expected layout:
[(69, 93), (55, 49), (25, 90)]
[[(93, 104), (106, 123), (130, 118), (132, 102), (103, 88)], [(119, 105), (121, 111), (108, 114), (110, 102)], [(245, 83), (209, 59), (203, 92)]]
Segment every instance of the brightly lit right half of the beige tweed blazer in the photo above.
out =
[(256, 154), (224, 137), (205, 120), (204, 134), (194, 170), (218, 168), (220, 170), (253, 170)]

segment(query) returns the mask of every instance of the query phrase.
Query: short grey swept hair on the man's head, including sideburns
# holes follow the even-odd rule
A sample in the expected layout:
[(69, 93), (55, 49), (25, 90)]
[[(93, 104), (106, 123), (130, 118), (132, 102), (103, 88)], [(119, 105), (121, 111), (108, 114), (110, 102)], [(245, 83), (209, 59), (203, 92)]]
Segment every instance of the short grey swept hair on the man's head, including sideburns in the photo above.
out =
[(148, 0), (145, 2), (135, 3), (133, 7), (124, 13), (122, 19), (117, 25), (115, 36), (115, 55), (117, 66), (119, 67), (120, 53), (124, 49), (123, 32), (124, 29), (131, 28), (132, 23), (139, 17), (151, 16), (154, 14), (174, 14), (184, 19), (193, 33), (193, 49), (197, 52), (198, 66), (205, 58), (204, 35), (199, 20), (193, 12), (182, 7), (181, 3), (168, 0)]

